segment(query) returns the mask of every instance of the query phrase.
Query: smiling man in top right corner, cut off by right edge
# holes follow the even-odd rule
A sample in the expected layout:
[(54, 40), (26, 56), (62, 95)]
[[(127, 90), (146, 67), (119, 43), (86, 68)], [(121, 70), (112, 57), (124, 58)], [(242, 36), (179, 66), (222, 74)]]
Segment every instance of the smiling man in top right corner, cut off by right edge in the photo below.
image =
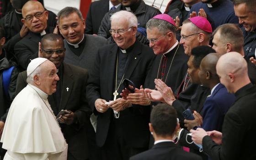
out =
[(244, 52), (248, 60), (256, 56), (256, 1), (234, 0), (235, 15), (238, 16), (239, 24), (243, 25)]

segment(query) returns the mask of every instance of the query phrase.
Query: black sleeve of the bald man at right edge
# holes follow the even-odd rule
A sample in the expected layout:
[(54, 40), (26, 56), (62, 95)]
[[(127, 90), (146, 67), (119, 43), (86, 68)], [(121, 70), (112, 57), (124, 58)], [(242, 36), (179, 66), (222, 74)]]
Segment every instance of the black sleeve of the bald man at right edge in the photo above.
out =
[(213, 142), (209, 136), (203, 138), (203, 149), (213, 160), (235, 160), (240, 155), (242, 137), (246, 130), (241, 117), (236, 113), (228, 112), (223, 124), (222, 145)]

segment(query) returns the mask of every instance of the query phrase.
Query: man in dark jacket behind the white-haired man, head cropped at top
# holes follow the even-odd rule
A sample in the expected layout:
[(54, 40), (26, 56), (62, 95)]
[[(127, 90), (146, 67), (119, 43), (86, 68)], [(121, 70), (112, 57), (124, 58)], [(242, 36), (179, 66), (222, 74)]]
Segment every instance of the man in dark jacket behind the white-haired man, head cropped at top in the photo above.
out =
[(98, 31), (98, 35), (105, 37), (109, 40), (109, 42), (114, 43), (109, 30), (111, 28), (111, 23), (109, 21), (110, 17), (117, 11), (130, 11), (137, 16), (138, 19), (138, 28), (143, 34), (138, 34), (137, 37), (139, 38), (140, 42), (148, 43), (145, 39), (146, 37), (146, 23), (149, 21), (150, 18), (161, 14), (161, 12), (154, 7), (146, 5), (143, 0), (120, 0), (121, 5), (117, 7), (117, 9), (107, 12), (107, 14), (103, 17), (101, 21), (101, 26)]

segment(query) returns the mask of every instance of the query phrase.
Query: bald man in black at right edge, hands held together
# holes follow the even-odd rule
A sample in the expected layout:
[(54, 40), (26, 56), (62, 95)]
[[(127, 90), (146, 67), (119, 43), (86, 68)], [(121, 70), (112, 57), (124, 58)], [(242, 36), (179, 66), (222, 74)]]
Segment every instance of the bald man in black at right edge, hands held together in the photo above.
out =
[[(216, 66), (220, 82), (235, 94), (235, 103), (226, 116), (222, 133), (205, 132), (202, 128), (190, 130), (192, 140), (203, 145), (203, 150), (213, 160), (253, 160), (256, 158), (254, 119), (256, 86), (251, 84), (247, 63), (240, 53), (222, 55)], [(214, 142), (213, 142), (214, 141)]]

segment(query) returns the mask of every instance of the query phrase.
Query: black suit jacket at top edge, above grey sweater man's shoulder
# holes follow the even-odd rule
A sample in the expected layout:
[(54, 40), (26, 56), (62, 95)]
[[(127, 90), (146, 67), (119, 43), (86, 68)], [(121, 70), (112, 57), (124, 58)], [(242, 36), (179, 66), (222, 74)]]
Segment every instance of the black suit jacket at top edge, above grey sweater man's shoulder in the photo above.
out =
[(101, 20), (109, 10), (109, 0), (92, 2), (86, 16), (86, 34), (98, 34)]

